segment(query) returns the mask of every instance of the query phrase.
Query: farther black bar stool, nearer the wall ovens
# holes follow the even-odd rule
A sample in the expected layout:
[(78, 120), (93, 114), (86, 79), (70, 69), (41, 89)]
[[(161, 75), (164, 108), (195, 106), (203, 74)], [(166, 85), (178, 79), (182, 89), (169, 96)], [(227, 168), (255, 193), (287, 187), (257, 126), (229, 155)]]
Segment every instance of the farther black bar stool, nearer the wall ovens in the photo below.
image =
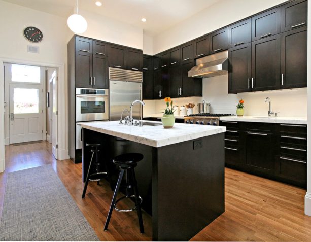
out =
[[(83, 193), (82, 193), (82, 198), (85, 197), (85, 193), (86, 193), (86, 189), (87, 189), (87, 185), (89, 183), (89, 181), (91, 182), (96, 182), (97, 181), (97, 185), (99, 185), (99, 181), (104, 179), (105, 176), (107, 175), (107, 172), (99, 172), (99, 165), (100, 163), (98, 162), (98, 147), (100, 146), (100, 144), (86, 144), (86, 146), (91, 147), (91, 152), (92, 152), (92, 157), (91, 157), (91, 161), (90, 161), (90, 165), (89, 165), (89, 169), (87, 171), (87, 175), (86, 175), (86, 179), (85, 179), (85, 184), (84, 184), (84, 189), (83, 189)], [(94, 154), (96, 153), (96, 172), (93, 174), (90, 174), (90, 169), (92, 166), (92, 161), (93, 161), (93, 157)], [(105, 163), (106, 165), (106, 163)], [(106, 170), (107, 170), (107, 166), (106, 166)]]

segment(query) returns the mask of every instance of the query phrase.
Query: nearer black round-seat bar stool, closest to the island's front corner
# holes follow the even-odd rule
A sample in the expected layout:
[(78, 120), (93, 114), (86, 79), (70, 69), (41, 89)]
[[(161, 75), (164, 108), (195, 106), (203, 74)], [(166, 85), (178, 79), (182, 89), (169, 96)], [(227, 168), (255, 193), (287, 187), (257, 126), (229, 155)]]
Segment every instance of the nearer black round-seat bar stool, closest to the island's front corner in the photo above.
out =
[[(140, 231), (141, 233), (144, 233), (144, 224), (143, 224), (142, 211), (141, 211), (141, 203), (143, 199), (138, 194), (137, 181), (136, 181), (135, 171), (134, 171), (134, 167), (137, 166), (137, 162), (139, 162), (143, 158), (144, 156), (139, 153), (126, 153), (126, 154), (118, 155), (115, 158), (113, 158), (113, 163), (119, 165), (120, 167), (120, 175), (119, 175), (116, 189), (115, 189), (115, 192), (112, 198), (112, 202), (110, 205), (105, 227), (103, 229), (104, 231), (107, 231), (108, 229), (108, 225), (109, 225), (109, 221), (110, 221), (113, 209), (115, 209), (118, 212), (130, 212), (130, 211), (136, 210), (137, 215), (138, 215), (138, 221), (140, 224)], [(126, 196), (121, 197), (118, 200), (116, 200), (117, 194), (118, 194), (118, 191), (121, 185), (121, 181), (124, 175), (124, 171), (126, 171)], [(130, 192), (131, 189), (134, 190), (134, 195), (131, 195), (131, 192)], [(130, 197), (135, 197), (134, 208), (127, 209), (127, 210), (121, 210), (117, 208), (116, 205), (120, 200), (124, 198), (130, 198)]]

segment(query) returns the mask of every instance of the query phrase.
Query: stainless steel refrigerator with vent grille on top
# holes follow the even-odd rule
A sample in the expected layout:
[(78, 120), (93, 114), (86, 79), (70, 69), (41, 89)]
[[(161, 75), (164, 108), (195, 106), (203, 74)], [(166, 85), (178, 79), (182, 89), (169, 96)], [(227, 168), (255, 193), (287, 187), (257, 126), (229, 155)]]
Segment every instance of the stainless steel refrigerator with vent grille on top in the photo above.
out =
[[(119, 120), (134, 100), (142, 100), (143, 73), (118, 68), (109, 68), (109, 121)], [(132, 108), (133, 118), (142, 119), (142, 106)], [(124, 119), (125, 115), (123, 115)]]

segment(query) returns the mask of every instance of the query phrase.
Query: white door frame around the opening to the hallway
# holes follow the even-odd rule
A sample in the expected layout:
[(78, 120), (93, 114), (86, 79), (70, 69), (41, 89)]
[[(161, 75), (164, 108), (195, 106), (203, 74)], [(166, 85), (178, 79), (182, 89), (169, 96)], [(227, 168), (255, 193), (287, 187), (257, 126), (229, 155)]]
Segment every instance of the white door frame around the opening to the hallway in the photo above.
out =
[(49, 66), (58, 68), (58, 159), (68, 159), (66, 152), (66, 119), (65, 119), (65, 64), (60, 63), (47, 63), (37, 62), (21, 59), (10, 59), (0, 57), (0, 172), (5, 170), (5, 129), (4, 129), (4, 62), (25, 64), (25, 65), (37, 65), (37, 66)]

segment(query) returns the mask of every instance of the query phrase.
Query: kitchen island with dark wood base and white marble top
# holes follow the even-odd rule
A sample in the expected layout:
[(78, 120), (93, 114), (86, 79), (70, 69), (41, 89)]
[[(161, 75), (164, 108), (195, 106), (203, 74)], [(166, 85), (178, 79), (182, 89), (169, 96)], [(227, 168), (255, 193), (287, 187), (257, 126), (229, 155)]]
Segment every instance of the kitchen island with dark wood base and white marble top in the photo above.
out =
[(161, 122), (144, 124), (81, 124), (83, 180), (91, 158), (86, 143), (101, 144), (99, 161), (107, 162), (112, 187), (119, 172), (112, 158), (143, 154), (135, 173), (142, 208), (152, 215), (153, 240), (189, 240), (224, 212), (226, 128), (176, 123), (164, 129)]

